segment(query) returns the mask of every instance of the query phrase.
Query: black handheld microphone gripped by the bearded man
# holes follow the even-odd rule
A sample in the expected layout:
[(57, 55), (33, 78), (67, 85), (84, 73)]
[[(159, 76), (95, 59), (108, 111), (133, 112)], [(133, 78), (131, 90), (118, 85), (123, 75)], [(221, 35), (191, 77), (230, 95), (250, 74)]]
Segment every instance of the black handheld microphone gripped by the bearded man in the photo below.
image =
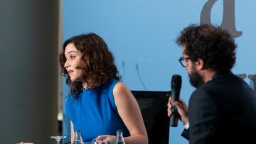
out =
[[(179, 95), (181, 92), (181, 81), (181, 76), (178, 74), (174, 74), (171, 77), (171, 99), (174, 99), (174, 101), (179, 100)], [(176, 106), (173, 106), (172, 109), (170, 126), (178, 126), (178, 109)]]

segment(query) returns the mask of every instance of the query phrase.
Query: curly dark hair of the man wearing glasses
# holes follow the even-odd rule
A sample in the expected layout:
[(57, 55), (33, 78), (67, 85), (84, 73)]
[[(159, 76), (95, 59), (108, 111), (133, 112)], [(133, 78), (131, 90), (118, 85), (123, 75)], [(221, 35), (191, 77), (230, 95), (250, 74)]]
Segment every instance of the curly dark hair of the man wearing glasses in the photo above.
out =
[(227, 72), (235, 64), (235, 40), (228, 31), (219, 26), (188, 26), (181, 31), (176, 43), (185, 46), (189, 60), (196, 61), (201, 58), (204, 68)]

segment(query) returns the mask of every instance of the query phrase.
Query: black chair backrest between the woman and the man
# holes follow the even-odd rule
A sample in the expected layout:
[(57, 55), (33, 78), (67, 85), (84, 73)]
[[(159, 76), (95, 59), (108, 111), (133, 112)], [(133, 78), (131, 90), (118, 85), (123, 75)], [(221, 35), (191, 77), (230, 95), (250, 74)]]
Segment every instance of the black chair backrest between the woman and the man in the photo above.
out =
[(132, 91), (142, 111), (149, 144), (169, 143), (169, 117), (167, 102), (170, 92)]

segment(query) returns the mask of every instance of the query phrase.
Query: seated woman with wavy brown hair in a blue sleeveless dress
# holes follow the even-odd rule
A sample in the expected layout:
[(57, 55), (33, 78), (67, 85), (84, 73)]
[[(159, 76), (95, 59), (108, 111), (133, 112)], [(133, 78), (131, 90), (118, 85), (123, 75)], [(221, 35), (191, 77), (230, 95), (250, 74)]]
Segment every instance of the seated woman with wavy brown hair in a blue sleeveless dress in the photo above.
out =
[(122, 130), (125, 143), (148, 143), (137, 101), (119, 81), (114, 57), (99, 35), (87, 33), (66, 40), (60, 67), (70, 87), (66, 112), (71, 141), (74, 131), (81, 131), (85, 143), (93, 138), (114, 143), (116, 131)]

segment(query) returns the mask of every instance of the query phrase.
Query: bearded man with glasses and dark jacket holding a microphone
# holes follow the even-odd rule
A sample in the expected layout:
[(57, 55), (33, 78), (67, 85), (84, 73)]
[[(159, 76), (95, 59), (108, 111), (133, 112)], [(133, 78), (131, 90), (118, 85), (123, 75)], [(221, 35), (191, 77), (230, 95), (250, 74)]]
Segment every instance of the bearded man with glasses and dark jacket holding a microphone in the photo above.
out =
[[(256, 96), (248, 84), (231, 72), (237, 45), (220, 27), (191, 25), (181, 31), (181, 65), (188, 71), (191, 94), (169, 99), (168, 116), (176, 106), (190, 144), (256, 143)], [(189, 123), (188, 123), (189, 121)]]

